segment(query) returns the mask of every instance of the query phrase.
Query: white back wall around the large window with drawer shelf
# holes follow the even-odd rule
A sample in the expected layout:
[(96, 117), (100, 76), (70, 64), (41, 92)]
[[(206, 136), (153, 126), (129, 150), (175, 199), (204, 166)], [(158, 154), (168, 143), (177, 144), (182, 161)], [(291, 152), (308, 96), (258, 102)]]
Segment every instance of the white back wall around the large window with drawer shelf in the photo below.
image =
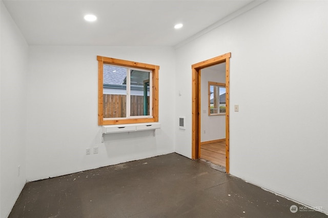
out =
[[(27, 180), (174, 152), (174, 50), (169, 47), (30, 46)], [(105, 136), (97, 125), (96, 56), (155, 64), (161, 129)], [(99, 147), (86, 155), (86, 148)]]

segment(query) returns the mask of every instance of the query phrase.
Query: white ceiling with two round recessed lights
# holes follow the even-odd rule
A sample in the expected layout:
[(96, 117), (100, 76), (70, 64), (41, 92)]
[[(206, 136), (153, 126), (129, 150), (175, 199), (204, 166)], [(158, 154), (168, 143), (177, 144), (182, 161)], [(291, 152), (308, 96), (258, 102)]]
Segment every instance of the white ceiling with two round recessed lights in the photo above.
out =
[[(30, 45), (176, 46), (253, 1), (3, 2)], [(89, 13), (97, 20), (85, 21)]]

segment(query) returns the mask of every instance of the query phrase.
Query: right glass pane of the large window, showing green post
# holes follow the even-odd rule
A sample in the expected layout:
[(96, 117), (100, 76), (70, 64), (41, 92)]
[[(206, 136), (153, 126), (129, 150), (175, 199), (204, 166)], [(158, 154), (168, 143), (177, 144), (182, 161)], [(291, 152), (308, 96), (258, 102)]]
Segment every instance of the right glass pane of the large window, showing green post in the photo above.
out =
[(130, 116), (149, 114), (150, 101), (150, 73), (142, 70), (130, 70)]

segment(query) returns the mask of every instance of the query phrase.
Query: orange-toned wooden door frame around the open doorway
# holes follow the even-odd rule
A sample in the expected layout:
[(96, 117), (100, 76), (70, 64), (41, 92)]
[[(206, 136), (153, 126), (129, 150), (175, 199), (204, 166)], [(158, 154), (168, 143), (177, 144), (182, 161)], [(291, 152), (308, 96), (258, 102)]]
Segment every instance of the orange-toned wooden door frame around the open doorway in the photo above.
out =
[[(210, 66), (225, 63), (226, 71), (226, 172), (229, 174), (229, 93), (230, 93), (230, 57), (231, 53), (227, 53), (209, 60), (205, 60), (192, 65), (192, 159), (201, 157), (201, 70)], [(222, 143), (222, 142), (221, 142)]]

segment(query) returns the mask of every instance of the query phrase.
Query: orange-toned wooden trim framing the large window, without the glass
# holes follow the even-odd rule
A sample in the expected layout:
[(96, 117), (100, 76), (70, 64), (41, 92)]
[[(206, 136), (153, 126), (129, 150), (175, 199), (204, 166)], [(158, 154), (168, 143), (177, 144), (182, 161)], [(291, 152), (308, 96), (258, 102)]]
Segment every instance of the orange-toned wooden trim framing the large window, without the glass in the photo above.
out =
[[(98, 61), (98, 125), (115, 124), (138, 124), (158, 122), (158, 71), (159, 66), (139, 63), (116, 58), (97, 56)], [(133, 67), (139, 69), (148, 69), (152, 71), (152, 118), (118, 118), (104, 119), (104, 94), (103, 94), (103, 76), (104, 64), (113, 64), (119, 66)]]

